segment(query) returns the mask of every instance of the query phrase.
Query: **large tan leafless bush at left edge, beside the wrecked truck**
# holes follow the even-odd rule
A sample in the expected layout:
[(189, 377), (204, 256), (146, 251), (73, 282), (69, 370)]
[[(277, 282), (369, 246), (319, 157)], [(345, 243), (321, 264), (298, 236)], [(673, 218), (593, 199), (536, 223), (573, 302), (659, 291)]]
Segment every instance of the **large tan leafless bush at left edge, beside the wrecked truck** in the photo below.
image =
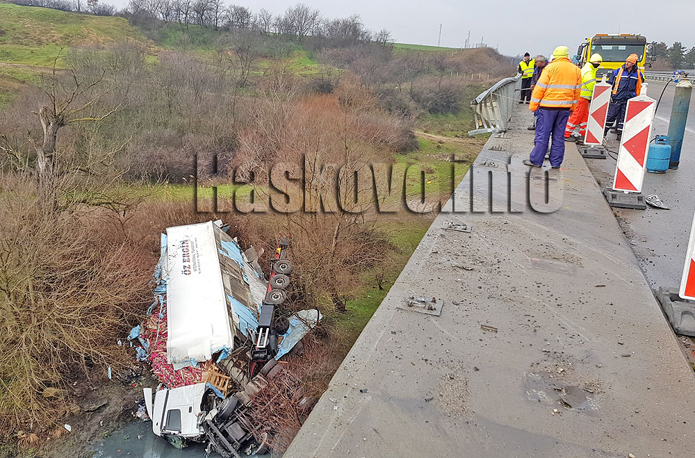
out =
[(152, 259), (105, 241), (82, 206), (47, 210), (22, 177), (0, 189), (0, 431), (45, 432), (67, 405), (45, 389), (128, 363), (116, 341), (147, 302)]

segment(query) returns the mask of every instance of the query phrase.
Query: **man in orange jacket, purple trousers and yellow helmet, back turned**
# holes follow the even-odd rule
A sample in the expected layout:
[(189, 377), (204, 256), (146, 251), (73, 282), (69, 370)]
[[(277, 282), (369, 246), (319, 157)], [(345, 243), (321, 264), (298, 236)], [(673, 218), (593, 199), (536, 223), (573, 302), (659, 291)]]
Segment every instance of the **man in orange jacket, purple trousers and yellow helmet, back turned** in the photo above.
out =
[(569, 60), (569, 48), (559, 46), (553, 51), (555, 59), (546, 65), (531, 95), (531, 111), (538, 111), (536, 138), (530, 158), (523, 161), (525, 165), (541, 167), (550, 146), (550, 166), (560, 167), (564, 158), (564, 130), (570, 111), (578, 104), (582, 74), (580, 69)]

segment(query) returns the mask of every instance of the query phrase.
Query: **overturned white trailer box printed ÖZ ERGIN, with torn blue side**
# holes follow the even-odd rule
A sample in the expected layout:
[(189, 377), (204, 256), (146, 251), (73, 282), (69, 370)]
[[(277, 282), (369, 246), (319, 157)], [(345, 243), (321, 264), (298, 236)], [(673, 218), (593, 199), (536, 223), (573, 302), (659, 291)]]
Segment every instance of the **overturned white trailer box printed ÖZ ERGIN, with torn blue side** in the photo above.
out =
[(267, 286), (222, 229), (167, 229), (166, 272), (168, 363), (195, 366), (252, 338)]

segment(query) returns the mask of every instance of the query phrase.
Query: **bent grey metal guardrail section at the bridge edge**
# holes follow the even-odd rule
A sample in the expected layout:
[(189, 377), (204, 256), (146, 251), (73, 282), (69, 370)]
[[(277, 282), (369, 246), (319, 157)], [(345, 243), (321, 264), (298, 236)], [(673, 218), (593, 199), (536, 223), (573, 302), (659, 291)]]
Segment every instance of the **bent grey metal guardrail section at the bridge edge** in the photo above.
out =
[(468, 131), (468, 135), (506, 131), (514, 108), (519, 102), (520, 91), (521, 74), (518, 74), (498, 81), (475, 97), (471, 102), (471, 108), (475, 116), (475, 125), (482, 127)]

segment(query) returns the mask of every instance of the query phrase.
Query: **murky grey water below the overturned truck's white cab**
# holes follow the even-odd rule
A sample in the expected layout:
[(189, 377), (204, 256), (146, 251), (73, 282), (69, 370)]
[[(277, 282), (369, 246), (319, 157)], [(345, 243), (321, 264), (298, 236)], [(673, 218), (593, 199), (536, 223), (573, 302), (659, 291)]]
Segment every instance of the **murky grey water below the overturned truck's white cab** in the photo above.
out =
[[(92, 458), (217, 458), (219, 455), (205, 453), (205, 447), (191, 444), (183, 450), (178, 450), (166, 439), (155, 436), (152, 423), (130, 423), (122, 430), (115, 431), (106, 439), (92, 446)], [(270, 455), (254, 455), (250, 458), (270, 458)]]

